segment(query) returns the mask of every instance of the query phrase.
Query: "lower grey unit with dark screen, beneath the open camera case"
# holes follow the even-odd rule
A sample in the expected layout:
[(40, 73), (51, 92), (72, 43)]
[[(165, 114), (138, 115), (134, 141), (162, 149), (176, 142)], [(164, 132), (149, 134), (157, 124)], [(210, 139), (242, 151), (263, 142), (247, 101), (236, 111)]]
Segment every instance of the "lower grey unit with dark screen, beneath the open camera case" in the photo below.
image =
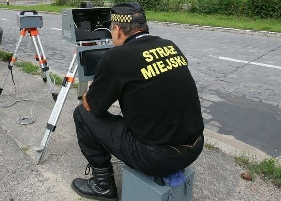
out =
[[(77, 46), (76, 47), (76, 53), (77, 53), (77, 65), (78, 65), (78, 79), (79, 82), (87, 82), (92, 81), (94, 74), (95, 74), (95, 68), (102, 56), (102, 54), (112, 48), (113, 45), (96, 45), (96, 46)], [(89, 56), (91, 56), (90, 63), (86, 63), (83, 61), (83, 54), (90, 53)], [(85, 65), (88, 66), (85, 66)], [(90, 64), (90, 65), (89, 65)], [(90, 72), (91, 75), (87, 74), (85, 75), (85, 68), (92, 68), (93, 71)]]

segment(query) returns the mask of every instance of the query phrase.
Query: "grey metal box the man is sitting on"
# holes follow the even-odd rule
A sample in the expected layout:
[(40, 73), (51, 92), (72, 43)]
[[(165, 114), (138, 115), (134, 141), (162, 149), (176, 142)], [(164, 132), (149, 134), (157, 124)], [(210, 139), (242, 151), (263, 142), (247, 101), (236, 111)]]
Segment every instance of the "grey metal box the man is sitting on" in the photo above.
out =
[(151, 177), (127, 165), (122, 168), (122, 201), (191, 201), (194, 170), (186, 168), (180, 186), (159, 186)]

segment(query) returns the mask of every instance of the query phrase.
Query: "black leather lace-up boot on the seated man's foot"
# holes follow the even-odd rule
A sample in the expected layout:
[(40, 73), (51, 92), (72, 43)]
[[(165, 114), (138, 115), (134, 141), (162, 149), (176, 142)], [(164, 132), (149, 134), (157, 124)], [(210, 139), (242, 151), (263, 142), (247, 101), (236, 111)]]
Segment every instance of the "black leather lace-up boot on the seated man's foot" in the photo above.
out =
[[(89, 168), (89, 165), (87, 167)], [(112, 163), (106, 168), (91, 167), (92, 177), (90, 179), (74, 179), (71, 184), (72, 189), (86, 198), (94, 198), (100, 201), (118, 201)]]

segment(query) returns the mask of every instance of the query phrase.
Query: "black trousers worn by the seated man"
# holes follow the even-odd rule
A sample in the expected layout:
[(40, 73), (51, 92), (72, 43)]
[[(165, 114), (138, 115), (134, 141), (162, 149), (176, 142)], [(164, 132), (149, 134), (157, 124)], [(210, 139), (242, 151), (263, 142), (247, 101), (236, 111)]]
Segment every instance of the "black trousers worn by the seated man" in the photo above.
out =
[(97, 168), (107, 167), (112, 154), (147, 175), (166, 176), (189, 166), (203, 149), (202, 134), (194, 147), (183, 148), (185, 151), (180, 155), (166, 155), (136, 139), (120, 115), (107, 113), (98, 119), (79, 105), (73, 117), (81, 151)]

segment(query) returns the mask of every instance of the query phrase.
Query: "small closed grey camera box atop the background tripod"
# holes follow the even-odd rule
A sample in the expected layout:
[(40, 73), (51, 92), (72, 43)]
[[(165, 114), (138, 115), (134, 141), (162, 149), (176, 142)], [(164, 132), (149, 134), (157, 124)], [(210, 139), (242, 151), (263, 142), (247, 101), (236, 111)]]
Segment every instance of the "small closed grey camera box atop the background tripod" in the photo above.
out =
[(34, 10), (21, 11), (16, 15), (16, 21), (20, 29), (43, 27), (42, 15)]

